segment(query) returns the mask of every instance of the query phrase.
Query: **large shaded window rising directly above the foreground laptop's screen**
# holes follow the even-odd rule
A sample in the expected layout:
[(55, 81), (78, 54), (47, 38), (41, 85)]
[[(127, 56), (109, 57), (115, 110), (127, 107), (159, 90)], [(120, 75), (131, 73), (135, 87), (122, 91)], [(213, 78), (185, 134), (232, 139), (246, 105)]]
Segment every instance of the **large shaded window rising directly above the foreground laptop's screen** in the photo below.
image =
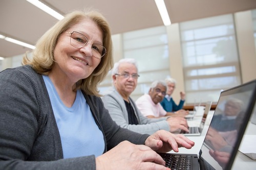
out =
[(186, 103), (217, 102), (220, 91), (241, 84), (231, 14), (180, 23)]

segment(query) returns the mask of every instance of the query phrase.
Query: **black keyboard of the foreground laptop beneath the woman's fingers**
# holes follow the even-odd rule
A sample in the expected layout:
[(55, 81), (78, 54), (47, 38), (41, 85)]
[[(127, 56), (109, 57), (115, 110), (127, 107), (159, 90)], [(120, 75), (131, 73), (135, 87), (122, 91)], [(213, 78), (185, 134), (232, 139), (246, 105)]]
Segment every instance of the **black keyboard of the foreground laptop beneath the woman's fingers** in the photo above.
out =
[(159, 153), (159, 155), (165, 161), (165, 166), (172, 170), (184, 169), (190, 170), (191, 167), (191, 155), (170, 155), (165, 153)]

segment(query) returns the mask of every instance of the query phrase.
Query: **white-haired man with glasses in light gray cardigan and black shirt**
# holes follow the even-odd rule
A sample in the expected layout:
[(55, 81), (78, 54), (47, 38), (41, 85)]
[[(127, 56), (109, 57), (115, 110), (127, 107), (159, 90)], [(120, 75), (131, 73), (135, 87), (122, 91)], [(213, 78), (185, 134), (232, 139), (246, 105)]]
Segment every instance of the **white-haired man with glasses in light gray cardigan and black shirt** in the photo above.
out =
[(102, 98), (112, 119), (122, 128), (142, 134), (153, 134), (157, 130), (177, 132), (188, 131), (186, 120), (181, 117), (161, 117), (151, 119), (144, 117), (138, 110), (130, 94), (137, 86), (139, 78), (134, 59), (121, 59), (112, 69), (114, 91)]

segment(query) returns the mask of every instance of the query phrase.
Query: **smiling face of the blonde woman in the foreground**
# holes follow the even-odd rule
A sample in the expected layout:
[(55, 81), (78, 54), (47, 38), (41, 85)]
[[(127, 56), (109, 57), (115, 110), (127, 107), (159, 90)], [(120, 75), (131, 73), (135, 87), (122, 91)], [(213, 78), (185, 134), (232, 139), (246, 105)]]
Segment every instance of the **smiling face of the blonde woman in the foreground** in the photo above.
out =
[[(88, 38), (88, 43), (76, 48), (70, 43), (70, 33), (76, 31)], [(67, 33), (70, 32), (70, 33)], [(72, 82), (89, 77), (99, 65), (100, 60), (92, 54), (93, 43), (102, 44), (103, 34), (94, 21), (85, 18), (70, 29), (63, 32), (54, 49), (54, 69), (67, 76)]]

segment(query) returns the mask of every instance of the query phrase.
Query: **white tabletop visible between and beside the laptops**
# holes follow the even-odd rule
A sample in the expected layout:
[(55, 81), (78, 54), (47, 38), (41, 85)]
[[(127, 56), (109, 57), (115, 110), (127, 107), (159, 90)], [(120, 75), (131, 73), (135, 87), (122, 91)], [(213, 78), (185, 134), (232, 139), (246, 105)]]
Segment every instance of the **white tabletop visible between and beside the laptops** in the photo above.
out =
[[(212, 115), (214, 114), (214, 111), (209, 111), (207, 118), (205, 120), (205, 125), (202, 131), (201, 136), (187, 136), (190, 140), (193, 140), (195, 142), (195, 146), (191, 149), (185, 149), (185, 148), (179, 148), (179, 153), (182, 154), (199, 154), (199, 151), (201, 149), (201, 146), (203, 144), (205, 135), (207, 133), (207, 130), (209, 128), (210, 120), (212, 118)], [(188, 120), (188, 126), (200, 126), (202, 114), (196, 115), (193, 120)], [(248, 123), (248, 126), (246, 128), (245, 134), (246, 135), (256, 135), (256, 125)], [(243, 141), (240, 145), (243, 144)], [(256, 146), (255, 146), (256, 147)], [(175, 153), (174, 151), (170, 151), (169, 153)], [(256, 160), (252, 160), (251, 158), (247, 157), (240, 151), (238, 151), (236, 159), (234, 160), (232, 170), (237, 169), (249, 169), (249, 170), (255, 170), (256, 169)]]

